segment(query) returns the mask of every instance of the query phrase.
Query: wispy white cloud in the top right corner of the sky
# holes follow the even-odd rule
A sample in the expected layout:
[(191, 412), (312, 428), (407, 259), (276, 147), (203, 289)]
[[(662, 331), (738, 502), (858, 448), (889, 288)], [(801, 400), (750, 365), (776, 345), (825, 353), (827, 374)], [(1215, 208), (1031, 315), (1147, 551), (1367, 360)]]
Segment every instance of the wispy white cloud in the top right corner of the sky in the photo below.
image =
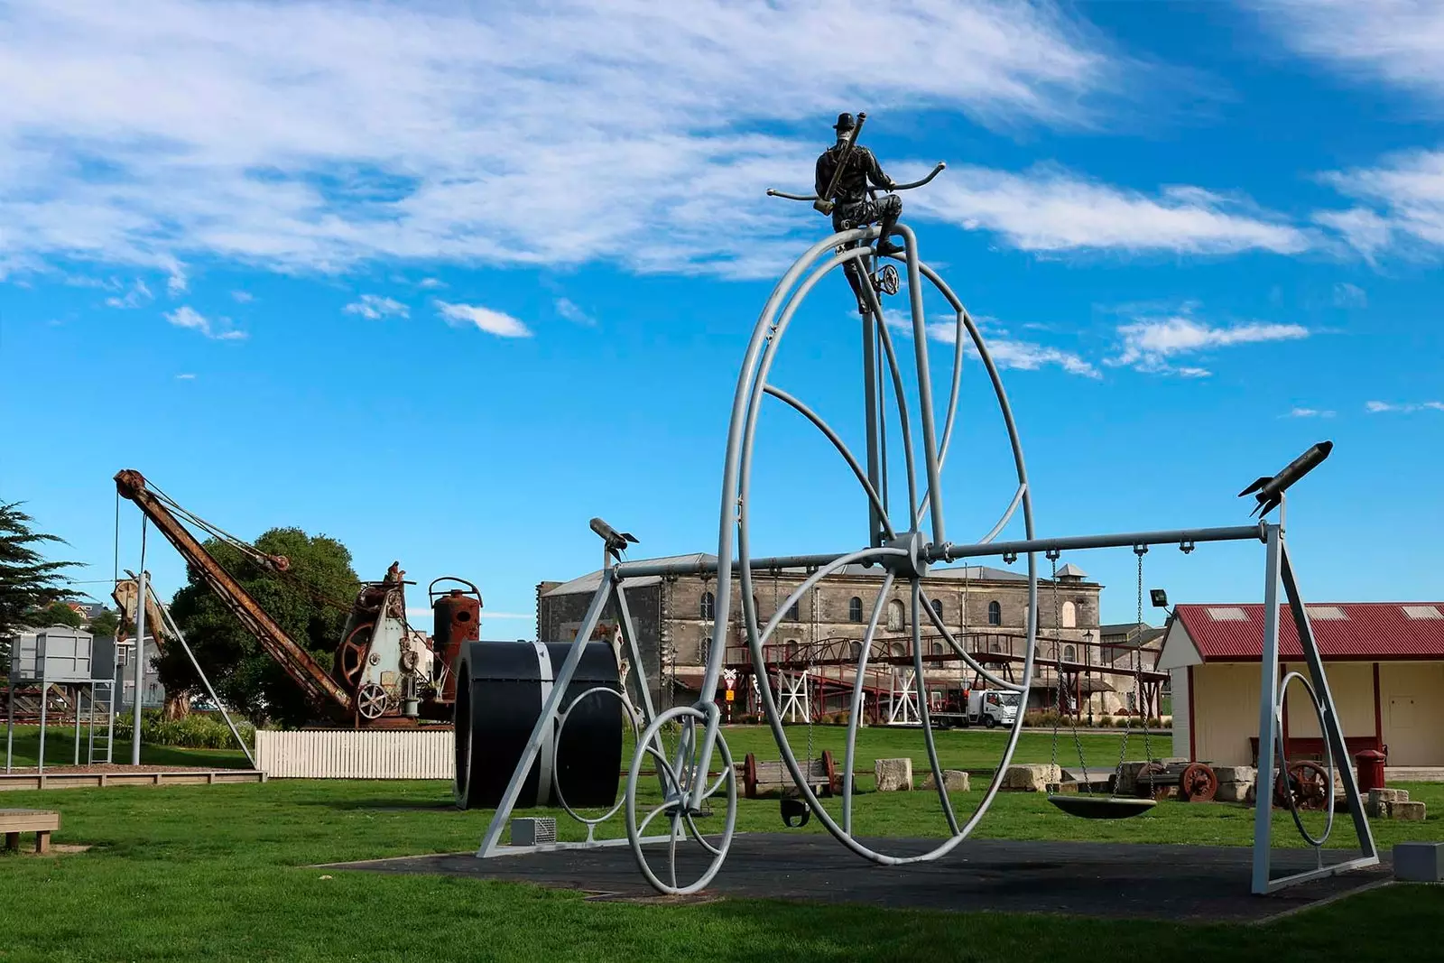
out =
[(1294, 52), (1370, 81), (1444, 97), (1437, 0), (1251, 0)]

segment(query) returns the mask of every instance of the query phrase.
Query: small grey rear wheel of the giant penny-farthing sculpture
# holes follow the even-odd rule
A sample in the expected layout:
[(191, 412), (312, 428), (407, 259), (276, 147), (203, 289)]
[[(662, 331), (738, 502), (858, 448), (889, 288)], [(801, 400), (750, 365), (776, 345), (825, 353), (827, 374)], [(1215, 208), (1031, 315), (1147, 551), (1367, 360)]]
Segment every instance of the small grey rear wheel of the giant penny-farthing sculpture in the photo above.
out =
[[(708, 715), (702, 709), (669, 709), (643, 732), (627, 774), (627, 839), (637, 868), (660, 892), (697, 892), (712, 882), (732, 845), (736, 826), (732, 752), (718, 732), (708, 768), (721, 772), (713, 778), (702, 771), (706, 728)], [(653, 778), (660, 800), (651, 790)], [(700, 806), (693, 800), (699, 781), (703, 785)], [(657, 860), (656, 868), (651, 860)]]

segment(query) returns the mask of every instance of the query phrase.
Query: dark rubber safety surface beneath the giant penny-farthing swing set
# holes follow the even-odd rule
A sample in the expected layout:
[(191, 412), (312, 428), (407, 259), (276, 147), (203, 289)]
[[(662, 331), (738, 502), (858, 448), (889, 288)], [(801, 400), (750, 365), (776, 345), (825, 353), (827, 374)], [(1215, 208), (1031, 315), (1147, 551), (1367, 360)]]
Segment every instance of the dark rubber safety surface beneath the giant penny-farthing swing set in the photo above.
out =
[[(866, 840), (892, 855), (926, 852), (937, 840)], [(653, 866), (661, 872), (664, 846)], [(696, 845), (679, 845), (683, 852)], [(1324, 862), (1353, 853), (1324, 852)], [(1385, 856), (1385, 859), (1388, 859)], [(690, 863), (690, 866), (689, 866)], [(1275, 850), (1274, 876), (1315, 865), (1313, 850)], [(631, 847), (569, 849), (477, 859), (475, 853), (332, 863), (338, 869), (439, 873), (583, 889), (612, 898), (654, 895)], [(700, 860), (679, 858), (679, 881)], [(1252, 850), (1239, 846), (1152, 846), (969, 840), (930, 863), (877, 866), (825, 835), (747, 833), (732, 840), (709, 892), (721, 897), (858, 902), (879, 907), (1064, 912), (1175, 921), (1261, 921), (1389, 879), (1388, 863), (1326, 876), (1268, 897), (1249, 894)], [(687, 875), (687, 869), (692, 875)]]

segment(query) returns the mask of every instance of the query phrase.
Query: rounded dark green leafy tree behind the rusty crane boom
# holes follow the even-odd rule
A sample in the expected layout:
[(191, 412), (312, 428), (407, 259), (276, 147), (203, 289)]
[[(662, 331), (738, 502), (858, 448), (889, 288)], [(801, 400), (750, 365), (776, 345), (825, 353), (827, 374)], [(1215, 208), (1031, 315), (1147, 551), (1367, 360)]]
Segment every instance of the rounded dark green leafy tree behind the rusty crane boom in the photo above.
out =
[[(290, 569), (276, 573), (234, 546), (217, 539), (205, 541), (205, 550), (261, 609), (329, 668), (341, 644), (351, 599), (360, 586), (351, 567), (351, 553), (335, 539), (309, 536), (300, 528), (271, 528), (256, 540), (256, 547), (266, 554), (286, 556)], [(253, 722), (274, 719), (283, 725), (300, 725), (328, 710), (328, 706), (308, 703), (295, 680), (266, 654), (260, 641), (211, 592), (195, 569), (189, 570), (185, 588), (176, 592), (170, 615), (215, 686), (215, 694)], [(166, 647), (156, 666), (168, 692), (204, 694), (201, 680), (179, 645)]]

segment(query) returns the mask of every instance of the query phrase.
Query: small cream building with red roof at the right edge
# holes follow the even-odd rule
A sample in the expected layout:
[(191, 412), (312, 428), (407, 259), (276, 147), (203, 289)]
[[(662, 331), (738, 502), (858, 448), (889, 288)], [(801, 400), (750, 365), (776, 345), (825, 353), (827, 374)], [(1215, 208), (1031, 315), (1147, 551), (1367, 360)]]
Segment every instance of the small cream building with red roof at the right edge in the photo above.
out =
[[(1444, 765), (1444, 603), (1308, 605), (1310, 624), (1350, 754), (1388, 752), (1393, 767)], [(1258, 755), (1262, 605), (1178, 605), (1158, 668), (1173, 677), (1174, 755), (1253, 765)], [(1279, 611), (1279, 673), (1305, 673), (1288, 608)], [(1288, 758), (1318, 755), (1318, 718), (1302, 686), (1284, 706)], [(1352, 759), (1350, 759), (1352, 764)]]

